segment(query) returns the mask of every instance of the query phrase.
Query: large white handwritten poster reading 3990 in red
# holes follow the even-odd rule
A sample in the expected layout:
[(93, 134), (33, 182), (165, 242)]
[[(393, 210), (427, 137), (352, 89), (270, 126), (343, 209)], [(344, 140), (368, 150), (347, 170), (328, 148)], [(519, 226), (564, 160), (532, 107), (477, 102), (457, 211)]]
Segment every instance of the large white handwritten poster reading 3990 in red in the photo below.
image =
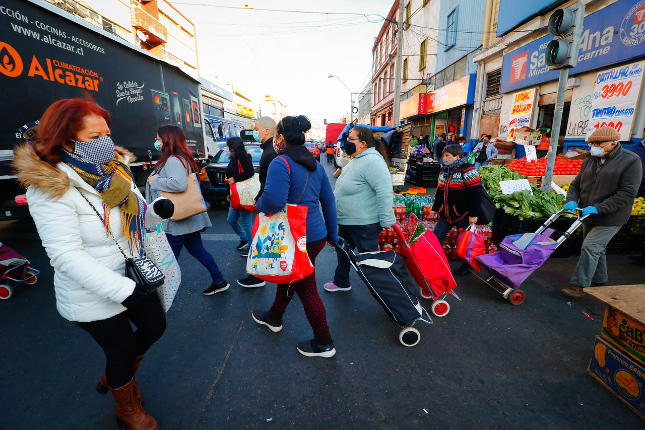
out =
[(631, 139), (644, 66), (644, 62), (631, 63), (596, 75), (587, 139), (600, 127), (615, 128), (621, 141)]

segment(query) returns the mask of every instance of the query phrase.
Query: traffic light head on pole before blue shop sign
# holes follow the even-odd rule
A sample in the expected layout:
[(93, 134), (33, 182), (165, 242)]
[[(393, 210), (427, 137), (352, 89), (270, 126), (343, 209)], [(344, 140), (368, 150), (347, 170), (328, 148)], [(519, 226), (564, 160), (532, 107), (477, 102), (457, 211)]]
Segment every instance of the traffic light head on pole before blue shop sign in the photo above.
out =
[(557, 9), (549, 18), (548, 32), (555, 37), (546, 45), (546, 65), (550, 70), (575, 67), (584, 19), (584, 5), (577, 2), (566, 9)]

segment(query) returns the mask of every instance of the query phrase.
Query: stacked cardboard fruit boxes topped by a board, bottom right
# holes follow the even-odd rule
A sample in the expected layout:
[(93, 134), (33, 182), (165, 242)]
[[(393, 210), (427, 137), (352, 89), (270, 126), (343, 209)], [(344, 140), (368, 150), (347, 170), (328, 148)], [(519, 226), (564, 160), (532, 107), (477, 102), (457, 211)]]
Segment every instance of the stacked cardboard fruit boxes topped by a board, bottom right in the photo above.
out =
[(588, 371), (645, 419), (645, 285), (584, 291), (607, 304)]

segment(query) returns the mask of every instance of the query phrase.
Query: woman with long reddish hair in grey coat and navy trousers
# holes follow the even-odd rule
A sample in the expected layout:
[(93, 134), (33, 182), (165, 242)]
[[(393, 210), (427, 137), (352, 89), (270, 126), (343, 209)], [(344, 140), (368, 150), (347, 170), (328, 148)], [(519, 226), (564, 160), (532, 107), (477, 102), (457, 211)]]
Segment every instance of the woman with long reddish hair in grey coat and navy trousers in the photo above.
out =
[[(197, 171), (186, 137), (181, 128), (166, 124), (157, 129), (155, 148), (161, 151), (161, 158), (155, 164), (152, 175), (146, 184), (146, 202), (148, 204), (159, 196), (159, 191), (181, 193), (186, 190), (188, 173)], [(165, 220), (163, 228), (168, 237), (175, 258), (184, 246), (190, 255), (195, 257), (210, 273), (213, 283), (204, 289), (204, 295), (212, 295), (228, 289), (230, 284), (217, 267), (213, 256), (206, 251), (201, 240), (201, 232), (212, 226), (208, 213), (199, 213), (182, 220)]]

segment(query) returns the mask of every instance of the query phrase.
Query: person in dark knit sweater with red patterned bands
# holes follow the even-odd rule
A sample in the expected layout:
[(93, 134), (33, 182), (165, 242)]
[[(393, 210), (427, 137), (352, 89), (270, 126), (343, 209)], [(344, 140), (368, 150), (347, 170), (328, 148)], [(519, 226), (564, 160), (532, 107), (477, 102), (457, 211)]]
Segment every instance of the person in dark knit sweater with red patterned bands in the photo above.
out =
[[(443, 150), (441, 163), (443, 170), (439, 174), (439, 184), (432, 213), (439, 213), (439, 221), (434, 233), (439, 243), (444, 240), (453, 226), (468, 228), (477, 222), (477, 212), (481, 207), (479, 174), (472, 164), (464, 159), (464, 150), (459, 145), (447, 145)], [(455, 275), (467, 275), (468, 264), (462, 264)]]

